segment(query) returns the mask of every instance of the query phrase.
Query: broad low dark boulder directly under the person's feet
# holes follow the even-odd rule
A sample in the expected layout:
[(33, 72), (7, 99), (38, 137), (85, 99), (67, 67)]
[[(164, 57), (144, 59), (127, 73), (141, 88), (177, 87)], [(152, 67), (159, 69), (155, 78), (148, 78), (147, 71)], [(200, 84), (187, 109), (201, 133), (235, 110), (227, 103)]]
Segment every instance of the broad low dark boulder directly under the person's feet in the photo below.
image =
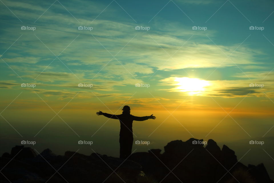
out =
[[(72, 182), (90, 182), (90, 177), (96, 180), (95, 182), (104, 182), (106, 179), (109, 179), (106, 180), (106, 182), (112, 179), (116, 180), (117, 175), (113, 173), (114, 170), (116, 170), (115, 172), (119, 176), (123, 176), (125, 179), (134, 179), (138, 177), (142, 171), (142, 167), (136, 162), (97, 153), (86, 156), (84, 154), (67, 151), (64, 157), (69, 159), (69, 161), (60, 171), (66, 174)], [(112, 173), (114, 175), (108, 178)], [(74, 176), (75, 174), (79, 175), (78, 178)], [(81, 177), (80, 180), (79, 177)], [(118, 177), (118, 180), (119, 179)]]

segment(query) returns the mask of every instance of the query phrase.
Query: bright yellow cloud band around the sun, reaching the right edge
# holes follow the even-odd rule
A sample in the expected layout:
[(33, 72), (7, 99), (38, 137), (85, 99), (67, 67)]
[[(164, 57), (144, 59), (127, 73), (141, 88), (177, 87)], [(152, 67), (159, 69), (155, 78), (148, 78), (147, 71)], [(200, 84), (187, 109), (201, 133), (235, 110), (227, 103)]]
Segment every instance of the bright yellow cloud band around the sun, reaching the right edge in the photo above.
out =
[[(198, 96), (212, 96), (212, 97), (223, 97), (223, 98), (235, 98), (245, 96), (256, 96), (256, 97), (267, 97), (264, 93), (268, 93), (269, 97), (274, 94), (273, 81), (260, 81), (256, 79), (239, 79), (239, 80), (208, 80), (209, 85), (205, 85), (202, 88), (197, 89), (194, 92), (182, 90), (178, 79), (180, 77), (168, 77), (160, 80), (160, 85), (168, 87), (167, 89), (160, 89), (168, 92), (179, 92), (181, 95), (198, 95)], [(253, 84), (257, 85), (253, 85)], [(196, 83), (193, 83), (195, 85)], [(259, 84), (263, 84), (263, 87), (259, 87)], [(260, 85), (261, 86), (261, 85)], [(186, 88), (188, 86), (185, 86)], [(192, 87), (192, 86), (190, 86)]]

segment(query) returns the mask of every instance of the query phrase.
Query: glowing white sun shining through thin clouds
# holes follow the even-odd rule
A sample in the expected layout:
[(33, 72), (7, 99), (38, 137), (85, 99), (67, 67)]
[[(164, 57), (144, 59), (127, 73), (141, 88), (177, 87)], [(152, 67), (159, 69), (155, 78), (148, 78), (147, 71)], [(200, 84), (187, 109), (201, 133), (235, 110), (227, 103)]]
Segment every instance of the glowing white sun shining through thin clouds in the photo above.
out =
[(209, 86), (209, 81), (189, 78), (189, 77), (175, 77), (174, 81), (178, 82), (177, 90), (180, 92), (187, 92), (188, 95), (201, 95), (205, 91), (205, 87)]

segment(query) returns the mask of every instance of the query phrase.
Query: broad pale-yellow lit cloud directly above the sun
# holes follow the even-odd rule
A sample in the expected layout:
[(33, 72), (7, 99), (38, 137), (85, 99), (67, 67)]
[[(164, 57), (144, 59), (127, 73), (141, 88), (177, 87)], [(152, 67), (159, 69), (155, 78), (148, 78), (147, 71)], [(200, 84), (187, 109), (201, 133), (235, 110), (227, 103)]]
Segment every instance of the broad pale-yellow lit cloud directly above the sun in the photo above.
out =
[[(150, 45), (149, 41), (144, 41), (142, 47), (146, 52), (137, 55), (137, 63), (146, 63), (159, 70), (174, 70), (183, 68), (210, 68), (229, 67), (237, 65), (255, 64), (254, 56), (258, 51), (237, 45), (224, 46), (208, 43), (195, 43), (181, 40), (180, 44), (174, 45), (174, 37), (169, 37), (169, 41), (163, 36), (152, 36), (159, 45)], [(149, 39), (147, 37), (147, 39)], [(154, 41), (150, 38), (150, 41)], [(177, 40), (178, 41), (178, 40)], [(171, 43), (173, 42), (173, 44)], [(181, 47), (181, 45), (184, 45)], [(233, 52), (234, 51), (234, 52)], [(233, 52), (232, 55), (230, 55)], [(138, 50), (136, 51), (138, 53)], [(227, 56), (230, 55), (230, 59)], [(171, 57), (172, 56), (172, 57)]]

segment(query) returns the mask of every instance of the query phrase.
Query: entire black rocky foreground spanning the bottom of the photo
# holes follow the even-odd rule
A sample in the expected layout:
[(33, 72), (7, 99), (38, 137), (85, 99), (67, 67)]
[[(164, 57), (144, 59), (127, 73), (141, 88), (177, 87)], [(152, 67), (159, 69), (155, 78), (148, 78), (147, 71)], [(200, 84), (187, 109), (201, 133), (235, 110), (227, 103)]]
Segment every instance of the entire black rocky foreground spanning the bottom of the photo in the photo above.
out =
[(0, 158), (0, 182), (247, 182), (272, 183), (263, 164), (245, 166), (233, 150), (208, 140), (207, 146), (174, 140), (165, 147), (133, 153), (127, 160), (92, 153), (41, 154), (15, 146)]

